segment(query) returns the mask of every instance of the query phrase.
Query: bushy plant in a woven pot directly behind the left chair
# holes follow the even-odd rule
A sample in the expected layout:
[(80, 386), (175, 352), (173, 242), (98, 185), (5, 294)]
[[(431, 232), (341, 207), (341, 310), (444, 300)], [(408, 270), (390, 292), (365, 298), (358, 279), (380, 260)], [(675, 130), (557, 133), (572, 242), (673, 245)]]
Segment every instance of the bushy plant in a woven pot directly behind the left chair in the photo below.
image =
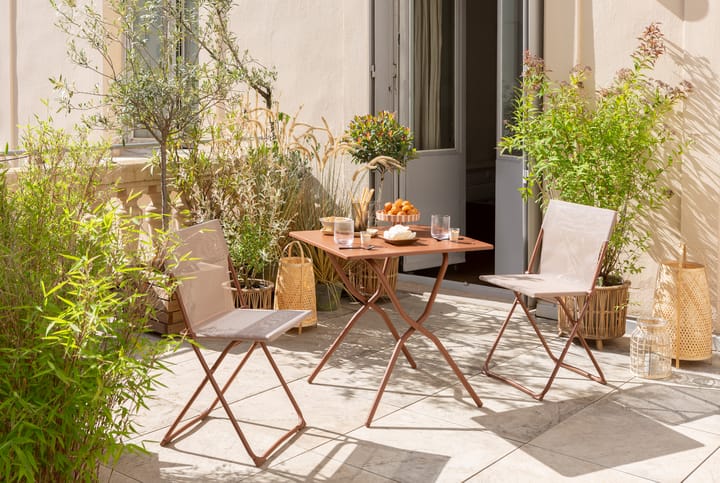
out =
[(292, 124), (287, 114), (245, 99), (198, 131), (171, 170), (191, 221), (222, 223), (240, 302), (254, 308), (272, 308), (271, 280), (309, 176), (303, 152), (288, 138)]

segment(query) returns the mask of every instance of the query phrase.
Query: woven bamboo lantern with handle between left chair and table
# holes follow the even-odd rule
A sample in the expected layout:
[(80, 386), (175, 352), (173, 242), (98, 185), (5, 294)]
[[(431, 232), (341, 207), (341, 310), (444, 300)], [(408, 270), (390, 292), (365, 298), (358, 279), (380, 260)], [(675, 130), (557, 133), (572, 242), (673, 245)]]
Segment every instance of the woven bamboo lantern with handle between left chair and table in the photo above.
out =
[[(299, 256), (293, 256), (293, 248), (299, 250)], [(298, 324), (303, 327), (317, 325), (317, 306), (315, 303), (315, 273), (310, 257), (305, 256), (302, 244), (295, 240), (287, 244), (278, 264), (275, 281), (275, 309), (309, 310), (310, 314)]]

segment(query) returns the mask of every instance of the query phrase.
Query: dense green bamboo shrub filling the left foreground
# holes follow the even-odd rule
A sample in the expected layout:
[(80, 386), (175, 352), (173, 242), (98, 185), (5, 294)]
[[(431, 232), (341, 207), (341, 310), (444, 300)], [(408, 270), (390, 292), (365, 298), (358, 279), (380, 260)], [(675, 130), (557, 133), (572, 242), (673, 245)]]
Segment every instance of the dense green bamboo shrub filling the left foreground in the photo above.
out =
[(138, 220), (99, 191), (106, 146), (41, 122), (28, 166), (0, 180), (0, 474), (95, 481), (123, 451), (167, 348), (143, 335), (145, 287), (164, 281), (126, 249)]

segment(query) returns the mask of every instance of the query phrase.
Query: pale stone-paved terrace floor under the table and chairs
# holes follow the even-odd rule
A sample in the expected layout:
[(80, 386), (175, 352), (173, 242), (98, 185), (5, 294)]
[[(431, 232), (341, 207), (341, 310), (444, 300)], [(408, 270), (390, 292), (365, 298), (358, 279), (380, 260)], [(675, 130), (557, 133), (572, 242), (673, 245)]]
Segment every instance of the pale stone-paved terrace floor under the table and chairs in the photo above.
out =
[[(400, 288), (405, 306), (419, 314), (428, 289)], [(390, 304), (384, 306), (399, 320)], [(595, 351), (607, 385), (561, 369), (538, 402), (480, 370), (509, 303), (445, 291), (426, 325), (446, 345), (483, 407), (473, 404), (434, 345), (416, 335), (408, 347), (418, 368), (399, 359), (375, 422), (366, 428), (392, 346), (377, 315), (366, 315), (315, 383), (307, 382), (356, 308), (343, 300), (338, 311), (318, 314), (317, 327), (300, 335), (291, 331), (272, 345), (307, 428), (263, 468), (253, 466), (222, 409), (172, 445), (158, 444), (202, 377), (192, 351), (183, 346), (165, 359), (173, 371), (161, 377), (167, 387), (137, 417), (135, 442), (144, 442), (149, 454), (124, 456), (114, 471), (101, 471), (103, 481), (720, 481), (717, 353), (708, 361), (682, 362), (669, 379), (640, 379), (629, 370), (626, 336)], [(541, 325), (553, 347), (565, 341), (552, 321)], [(541, 384), (551, 366), (530, 326), (508, 330), (509, 345), (493, 359), (496, 369)], [(569, 358), (585, 364), (580, 349), (574, 344)], [(241, 352), (235, 351), (235, 361)], [(245, 421), (251, 444), (262, 447), (294, 418), (265, 359), (256, 354), (251, 361), (228, 400)]]

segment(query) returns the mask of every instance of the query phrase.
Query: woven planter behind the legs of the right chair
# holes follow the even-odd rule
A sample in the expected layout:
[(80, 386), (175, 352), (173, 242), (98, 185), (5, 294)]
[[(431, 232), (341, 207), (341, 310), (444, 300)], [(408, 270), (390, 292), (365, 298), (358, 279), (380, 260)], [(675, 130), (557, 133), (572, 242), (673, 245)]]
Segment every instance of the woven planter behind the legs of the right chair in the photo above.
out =
[[(598, 349), (602, 349), (602, 341), (616, 339), (625, 335), (625, 319), (630, 297), (630, 282), (609, 287), (596, 287), (590, 299), (585, 316), (580, 321), (580, 332), (588, 340), (596, 341)], [(572, 300), (566, 299), (569, 307)], [(577, 297), (578, 310), (585, 303), (585, 296)], [(558, 306), (558, 329), (567, 334), (571, 327), (562, 307)]]

